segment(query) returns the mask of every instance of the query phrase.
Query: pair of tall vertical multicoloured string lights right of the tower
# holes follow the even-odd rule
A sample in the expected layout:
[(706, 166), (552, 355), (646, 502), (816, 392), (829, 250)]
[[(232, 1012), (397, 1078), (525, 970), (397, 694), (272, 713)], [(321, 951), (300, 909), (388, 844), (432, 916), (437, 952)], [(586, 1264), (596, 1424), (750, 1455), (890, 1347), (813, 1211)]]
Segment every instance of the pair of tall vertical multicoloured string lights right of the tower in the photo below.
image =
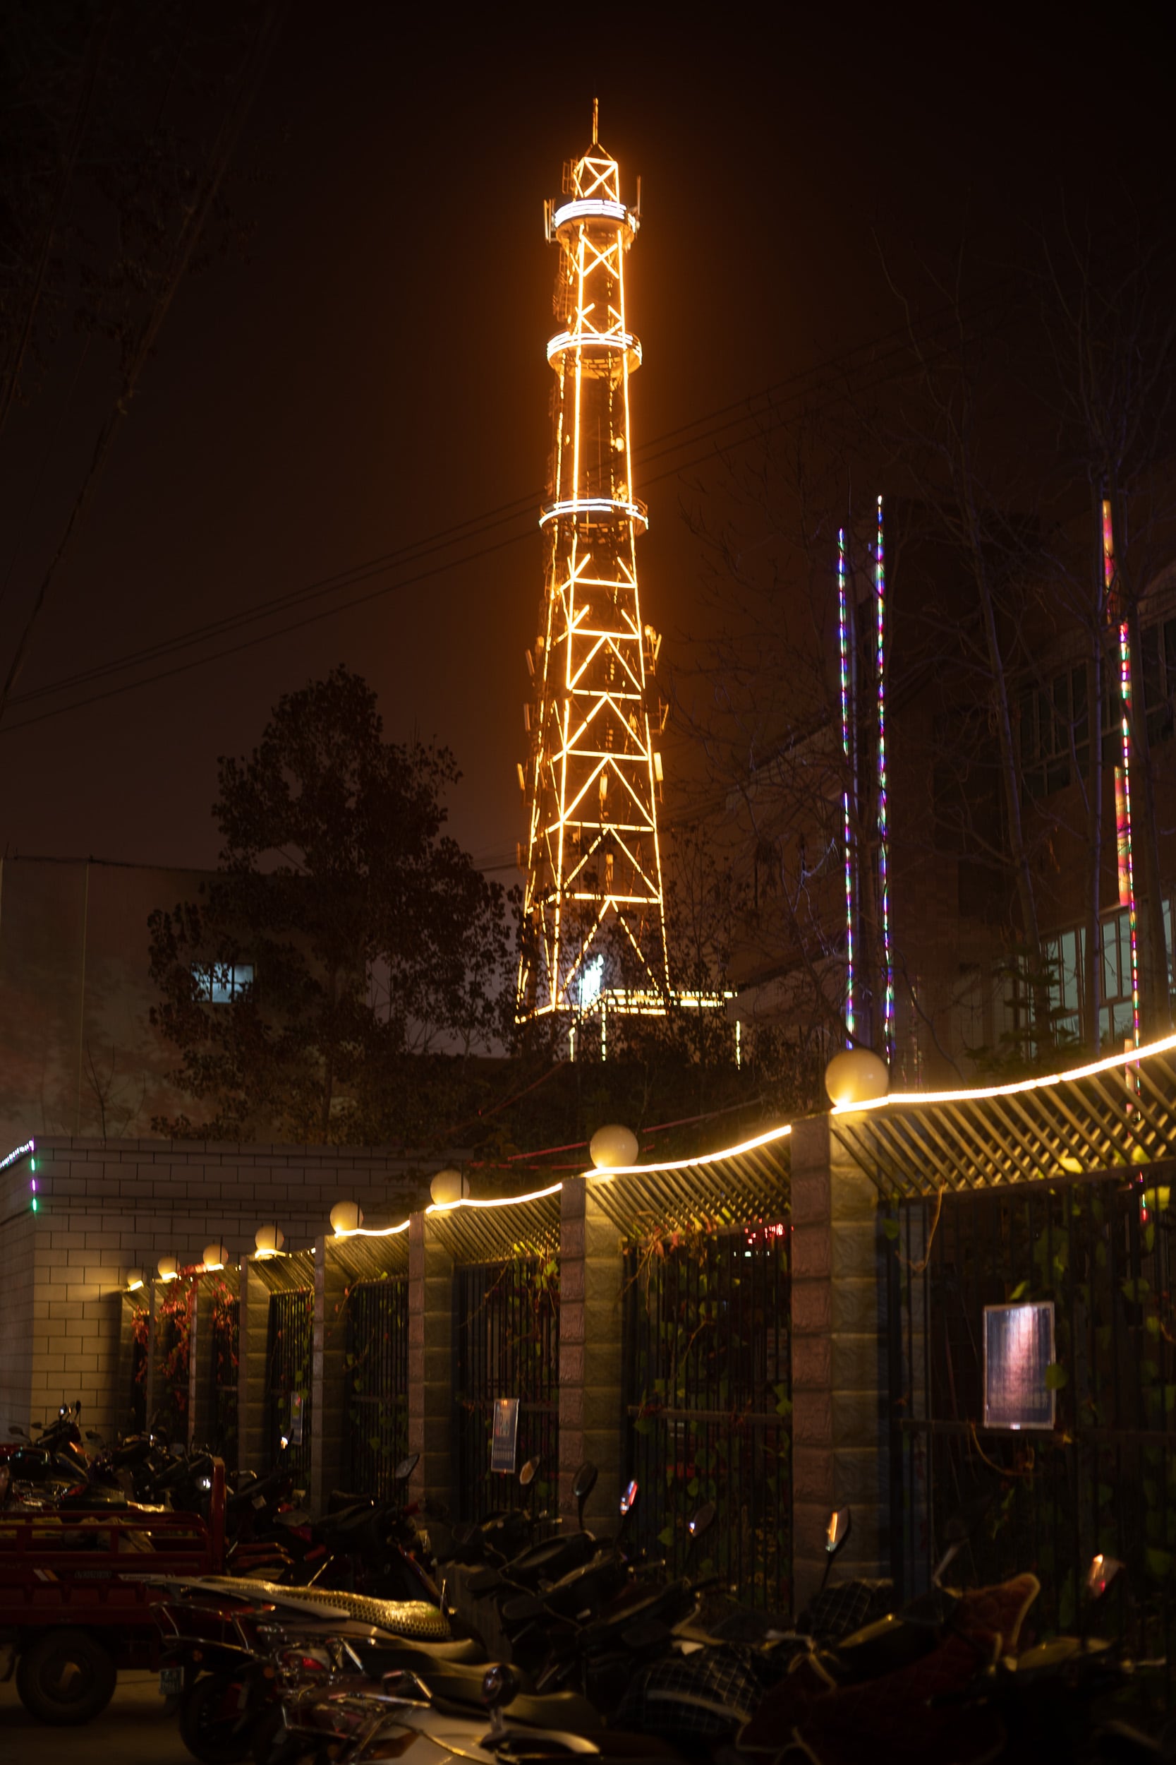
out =
[[(869, 752), (871, 743), (859, 727), (859, 671), (869, 671), (875, 683), (875, 729), (873, 754), (876, 766), (876, 905), (878, 905), (878, 957), (880, 957), (880, 1003), (882, 1024), (873, 1018), (873, 1033), (882, 1031), (882, 1052), (887, 1064), (894, 1066), (894, 957), (890, 950), (890, 805), (887, 780), (887, 572), (885, 572), (885, 528), (882, 498), (876, 503), (876, 528), (869, 545), (871, 575), (875, 595), (873, 634), (866, 634), (867, 655), (859, 653), (855, 627), (855, 597), (850, 593), (850, 558), (846, 530), (837, 530), (837, 639), (841, 662), (841, 754), (845, 761), (845, 787), (841, 794), (841, 837), (845, 847), (845, 948), (846, 948), (846, 985), (845, 985), (845, 1040), (853, 1047), (860, 1031), (869, 1029), (864, 1011), (859, 1010), (859, 951), (860, 943), (860, 874), (857, 831), (862, 826), (859, 754)], [(873, 644), (869, 644), (873, 635)], [(873, 650), (873, 653), (869, 653)], [(876, 1006), (875, 1006), (876, 1008)]]

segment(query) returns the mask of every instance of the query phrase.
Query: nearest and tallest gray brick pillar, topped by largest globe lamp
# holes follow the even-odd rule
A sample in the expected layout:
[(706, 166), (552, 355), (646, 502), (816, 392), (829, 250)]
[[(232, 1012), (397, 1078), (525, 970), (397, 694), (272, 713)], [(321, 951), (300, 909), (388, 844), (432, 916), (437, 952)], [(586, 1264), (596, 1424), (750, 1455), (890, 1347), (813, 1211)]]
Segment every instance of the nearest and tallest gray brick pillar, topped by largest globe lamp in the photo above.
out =
[(853, 1511), (841, 1574), (890, 1571), (885, 1258), (875, 1184), (830, 1137), (792, 1130), (792, 1421), (795, 1610), (823, 1571), (832, 1507)]

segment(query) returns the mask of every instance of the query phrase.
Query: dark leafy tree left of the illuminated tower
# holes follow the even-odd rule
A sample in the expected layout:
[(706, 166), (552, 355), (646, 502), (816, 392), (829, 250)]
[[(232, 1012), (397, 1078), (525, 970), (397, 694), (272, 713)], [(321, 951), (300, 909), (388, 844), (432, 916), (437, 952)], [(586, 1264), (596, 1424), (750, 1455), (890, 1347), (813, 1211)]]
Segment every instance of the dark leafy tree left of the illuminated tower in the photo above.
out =
[(384, 741), (346, 667), (286, 694), (249, 759), (219, 761), (220, 870), (150, 918), (152, 1022), (212, 1114), (157, 1131), (428, 1137), (501, 1029), (508, 974), (502, 888), (444, 833), (457, 778), (448, 748)]

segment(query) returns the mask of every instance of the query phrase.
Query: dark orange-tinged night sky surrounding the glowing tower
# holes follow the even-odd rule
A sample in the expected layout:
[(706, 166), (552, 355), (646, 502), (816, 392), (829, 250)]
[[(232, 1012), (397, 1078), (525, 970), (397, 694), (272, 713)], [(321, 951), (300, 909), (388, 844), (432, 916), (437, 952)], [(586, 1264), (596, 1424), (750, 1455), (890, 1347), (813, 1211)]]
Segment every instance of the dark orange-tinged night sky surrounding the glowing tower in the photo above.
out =
[[(1046, 12), (1028, 37), (1014, 12), (892, 12), (899, 23), (882, 9), (820, 21), (808, 7), (636, 7), (617, 9), (614, 32), (555, 9), (480, 26), (437, 9), (437, 28), (411, 35), (400, 7), (287, 7), (231, 180), (254, 221), (247, 254), (182, 289), (18, 690), (462, 522), (469, 537), (152, 667), (14, 704), (5, 847), (215, 861), (215, 757), (249, 748), (280, 692), (347, 662), (391, 736), (455, 748), (455, 831), (481, 863), (513, 863), (541, 552), (532, 512), (487, 531), (480, 517), (538, 508), (555, 268), (541, 201), (589, 138), (592, 95), (622, 189), (642, 175), (635, 438), (696, 425), (636, 480), (651, 505), (644, 614), (679, 660), (696, 558), (679, 482), (654, 473), (714, 447), (707, 413), (896, 323), (871, 228), (903, 261), (912, 244), (950, 245), (968, 217), (1000, 267), (1060, 192), (1083, 201), (1097, 175), (1146, 191), (1171, 164), (1158, 58), (1093, 16)], [(65, 332), (0, 450), (5, 669), (102, 415), (102, 364), (78, 374), (78, 353)], [(707, 469), (691, 478), (705, 485)], [(340, 611), (374, 590), (388, 591)]]

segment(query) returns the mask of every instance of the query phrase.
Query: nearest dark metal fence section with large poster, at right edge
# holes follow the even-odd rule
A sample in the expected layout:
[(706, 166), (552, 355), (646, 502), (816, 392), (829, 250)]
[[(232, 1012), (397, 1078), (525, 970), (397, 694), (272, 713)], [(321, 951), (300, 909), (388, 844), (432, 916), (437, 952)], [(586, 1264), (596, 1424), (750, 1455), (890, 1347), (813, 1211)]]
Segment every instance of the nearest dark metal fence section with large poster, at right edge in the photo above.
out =
[[(963, 1576), (1031, 1569), (1037, 1634), (1079, 1620), (1086, 1566), (1127, 1576), (1098, 1613), (1137, 1654), (1176, 1647), (1176, 1294), (1171, 1190), (1127, 1172), (903, 1202), (890, 1246), (894, 1573), (927, 1585), (945, 1523), (987, 1513)], [(986, 1306), (1053, 1303), (1053, 1426), (996, 1426)], [(1024, 1313), (1028, 1315), (1028, 1313)], [(1009, 1315), (1005, 1315), (1009, 1317)], [(994, 1354), (993, 1354), (994, 1359)], [(1012, 1368), (1016, 1373), (1016, 1366)], [(1016, 1401), (1023, 1401), (1016, 1384)], [(1005, 1419), (1014, 1410), (996, 1412)], [(1049, 1423), (1047, 1405), (1038, 1421)]]

